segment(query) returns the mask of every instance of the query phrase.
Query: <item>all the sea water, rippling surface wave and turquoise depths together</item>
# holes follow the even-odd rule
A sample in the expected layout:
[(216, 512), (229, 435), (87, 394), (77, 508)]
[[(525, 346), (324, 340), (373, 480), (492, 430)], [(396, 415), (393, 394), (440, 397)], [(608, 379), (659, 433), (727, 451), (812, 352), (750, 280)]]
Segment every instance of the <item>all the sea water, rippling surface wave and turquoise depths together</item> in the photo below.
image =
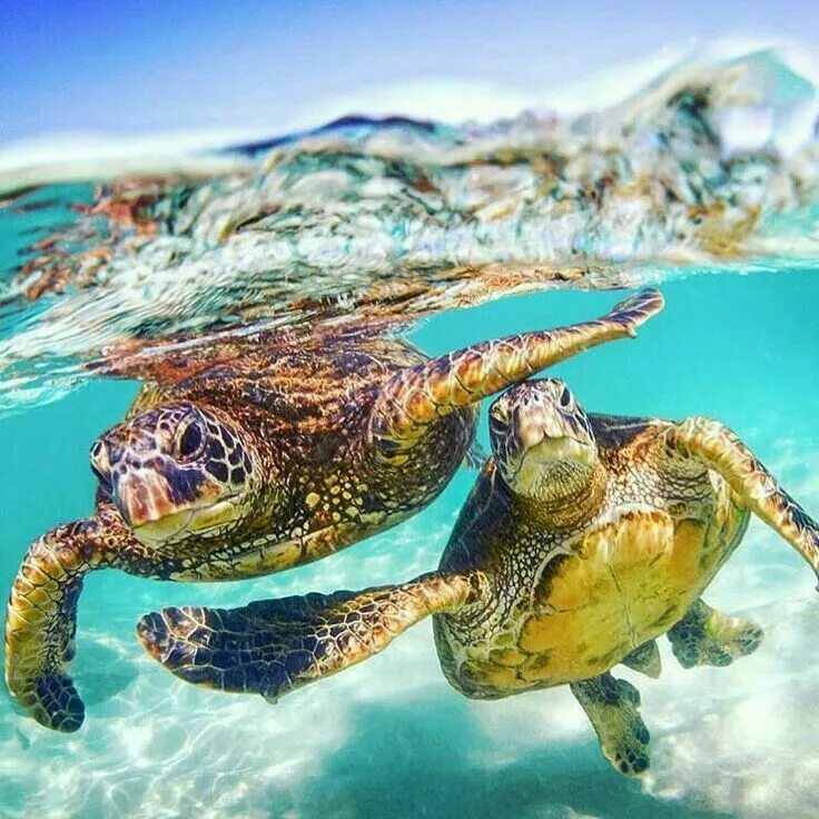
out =
[[(549, 374), (590, 412), (721, 420), (817, 516), (818, 87), (758, 51), (683, 61), (578, 116), (352, 116), (178, 166), (0, 168), (0, 588), (32, 540), (91, 511), (89, 446), (137, 379), (289, 333), (411, 333), (443, 354), (596, 318), (644, 285), (667, 307), (637, 341)], [(71, 665), (82, 728), (48, 731), (0, 687), (0, 817), (817, 815), (816, 579), (758, 521), (705, 594), (763, 626), (756, 653), (685, 671), (660, 641), (659, 680), (616, 669), (651, 731), (639, 780), (568, 689), (455, 692), (428, 620), (275, 705), (185, 684), (136, 639), (166, 605), (433, 570), (474, 481), (462, 468), (410, 521), (279, 575), (93, 573)]]

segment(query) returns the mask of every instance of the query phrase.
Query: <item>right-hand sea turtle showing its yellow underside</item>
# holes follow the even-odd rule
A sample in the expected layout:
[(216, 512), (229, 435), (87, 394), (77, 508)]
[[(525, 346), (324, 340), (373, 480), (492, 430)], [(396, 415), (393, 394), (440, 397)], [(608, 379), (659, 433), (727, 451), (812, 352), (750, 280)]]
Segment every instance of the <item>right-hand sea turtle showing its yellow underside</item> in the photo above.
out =
[(701, 599), (753, 512), (819, 566), (817, 524), (718, 421), (586, 415), (559, 379), (490, 411), (493, 456), (440, 569), (402, 585), (240, 609), (175, 608), (139, 637), (177, 677), (276, 698), (381, 651), (423, 618), (446, 679), (496, 699), (569, 684), (624, 774), (649, 766), (640, 695), (611, 669), (660, 673), (749, 654), (762, 631)]

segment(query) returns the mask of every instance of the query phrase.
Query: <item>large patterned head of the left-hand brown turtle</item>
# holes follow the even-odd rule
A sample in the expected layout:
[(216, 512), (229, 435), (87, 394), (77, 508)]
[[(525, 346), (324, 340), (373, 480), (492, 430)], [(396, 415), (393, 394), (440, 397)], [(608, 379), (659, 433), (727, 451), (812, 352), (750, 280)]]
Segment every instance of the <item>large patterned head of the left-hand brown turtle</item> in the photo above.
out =
[(240, 431), (189, 403), (108, 430), (91, 447), (91, 470), (135, 536), (151, 546), (235, 527), (253, 485)]

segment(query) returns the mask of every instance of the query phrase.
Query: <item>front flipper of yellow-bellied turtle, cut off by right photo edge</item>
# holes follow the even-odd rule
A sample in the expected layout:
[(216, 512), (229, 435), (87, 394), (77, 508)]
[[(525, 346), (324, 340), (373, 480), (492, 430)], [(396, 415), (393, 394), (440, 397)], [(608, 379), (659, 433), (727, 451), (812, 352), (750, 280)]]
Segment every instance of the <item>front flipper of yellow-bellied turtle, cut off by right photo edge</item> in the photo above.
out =
[(671, 427), (667, 440), (679, 454), (719, 473), (740, 502), (779, 532), (819, 578), (819, 525), (731, 430), (719, 421), (691, 417)]

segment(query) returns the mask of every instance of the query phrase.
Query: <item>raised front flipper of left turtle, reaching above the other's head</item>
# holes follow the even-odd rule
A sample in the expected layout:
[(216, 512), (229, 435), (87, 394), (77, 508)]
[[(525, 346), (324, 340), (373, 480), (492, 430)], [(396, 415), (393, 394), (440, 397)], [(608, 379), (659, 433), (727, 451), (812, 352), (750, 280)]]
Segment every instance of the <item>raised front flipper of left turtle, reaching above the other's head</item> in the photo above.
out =
[(633, 337), (637, 328), (662, 306), (658, 290), (641, 290), (596, 322), (475, 344), (402, 371), (384, 385), (375, 402), (369, 422), (372, 440), (385, 456), (399, 456), (436, 418), (584, 349)]

